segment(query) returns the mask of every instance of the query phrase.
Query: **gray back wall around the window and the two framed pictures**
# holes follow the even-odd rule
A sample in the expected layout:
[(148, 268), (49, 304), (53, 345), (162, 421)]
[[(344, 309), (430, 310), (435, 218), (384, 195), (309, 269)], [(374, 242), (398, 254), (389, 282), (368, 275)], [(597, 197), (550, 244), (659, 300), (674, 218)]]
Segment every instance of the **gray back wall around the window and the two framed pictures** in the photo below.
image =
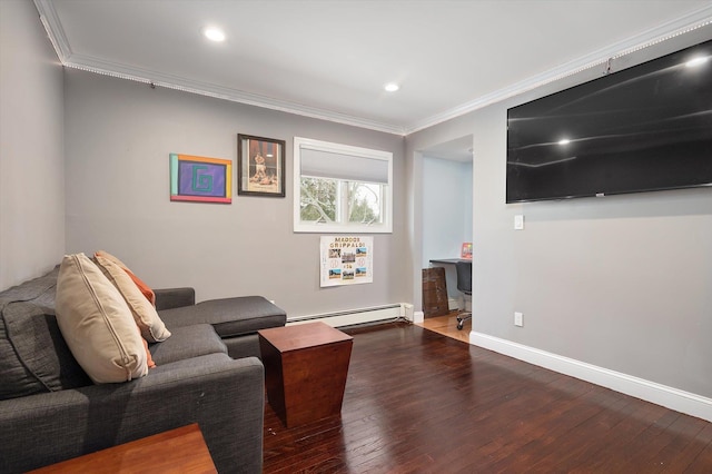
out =
[[(65, 83), (68, 253), (105, 249), (199, 300), (264, 295), (288, 316), (409, 302), (403, 137), (79, 70)], [(287, 197), (171, 203), (168, 155), (236, 164), (238, 132), (286, 140)], [(319, 288), (319, 235), (293, 233), (295, 136), (394, 154), (394, 231), (374, 236), (373, 284)]]

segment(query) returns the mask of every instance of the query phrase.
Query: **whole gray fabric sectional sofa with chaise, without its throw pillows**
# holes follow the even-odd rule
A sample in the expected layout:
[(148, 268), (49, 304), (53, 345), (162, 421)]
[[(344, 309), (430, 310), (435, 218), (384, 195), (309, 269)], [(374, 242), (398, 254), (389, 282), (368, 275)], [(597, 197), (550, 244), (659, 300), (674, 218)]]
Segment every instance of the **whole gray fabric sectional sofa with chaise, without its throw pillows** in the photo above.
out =
[(171, 336), (157, 367), (91, 383), (55, 316), (59, 267), (0, 293), (0, 473), (24, 472), (198, 423), (219, 472), (259, 473), (264, 367), (256, 332), (284, 326), (259, 296), (195, 304), (191, 288), (156, 290)]

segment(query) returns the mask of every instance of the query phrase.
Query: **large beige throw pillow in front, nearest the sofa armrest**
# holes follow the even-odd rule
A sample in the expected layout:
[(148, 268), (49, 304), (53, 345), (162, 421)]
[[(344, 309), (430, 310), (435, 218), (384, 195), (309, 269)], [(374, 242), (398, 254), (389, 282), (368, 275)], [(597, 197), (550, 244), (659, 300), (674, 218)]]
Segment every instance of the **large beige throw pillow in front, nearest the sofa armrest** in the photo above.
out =
[(62, 259), (56, 313), (69, 349), (96, 384), (127, 382), (148, 373), (130, 309), (85, 254)]

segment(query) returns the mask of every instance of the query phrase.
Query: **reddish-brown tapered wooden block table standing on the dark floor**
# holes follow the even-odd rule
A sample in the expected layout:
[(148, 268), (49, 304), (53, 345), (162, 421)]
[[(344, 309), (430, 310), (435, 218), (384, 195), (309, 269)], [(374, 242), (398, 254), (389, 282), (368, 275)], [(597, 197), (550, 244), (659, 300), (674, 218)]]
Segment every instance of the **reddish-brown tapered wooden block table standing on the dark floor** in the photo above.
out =
[(287, 427), (342, 413), (354, 338), (324, 323), (261, 329), (267, 399)]

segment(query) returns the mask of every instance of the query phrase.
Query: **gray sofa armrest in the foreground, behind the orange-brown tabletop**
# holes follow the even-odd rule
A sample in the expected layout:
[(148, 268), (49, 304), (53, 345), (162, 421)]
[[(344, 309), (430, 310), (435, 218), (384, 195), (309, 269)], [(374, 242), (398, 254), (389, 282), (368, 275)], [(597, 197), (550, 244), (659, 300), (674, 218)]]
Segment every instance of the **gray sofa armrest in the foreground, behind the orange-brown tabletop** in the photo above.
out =
[(24, 472), (198, 423), (218, 472), (260, 473), (264, 367), (210, 354), (122, 384), (0, 402), (0, 472)]

